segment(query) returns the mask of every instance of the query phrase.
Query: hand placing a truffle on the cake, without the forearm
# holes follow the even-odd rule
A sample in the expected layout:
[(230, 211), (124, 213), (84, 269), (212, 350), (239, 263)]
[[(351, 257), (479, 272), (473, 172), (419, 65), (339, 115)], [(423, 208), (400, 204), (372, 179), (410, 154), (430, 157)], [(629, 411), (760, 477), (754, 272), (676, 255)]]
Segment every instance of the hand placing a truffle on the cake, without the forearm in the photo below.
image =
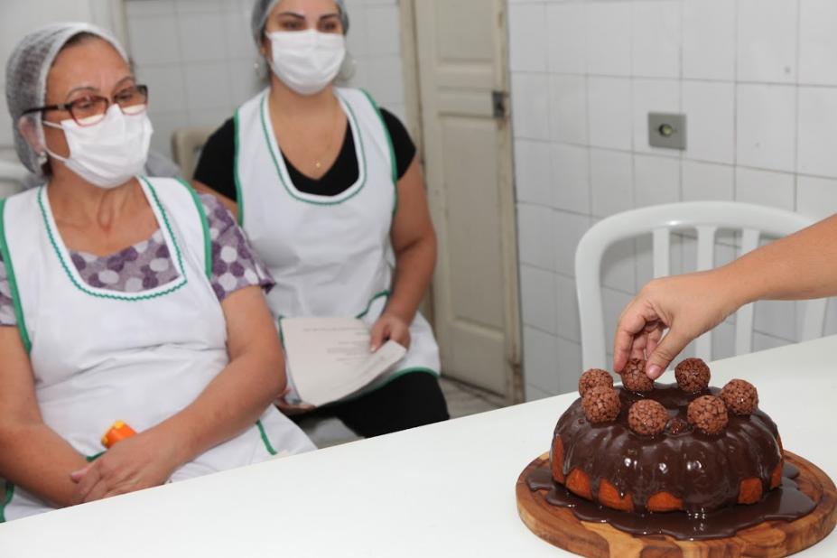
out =
[(686, 345), (735, 311), (727, 287), (718, 270), (646, 284), (619, 317), (613, 368), (619, 372), (628, 358), (646, 358), (648, 377), (660, 377)]

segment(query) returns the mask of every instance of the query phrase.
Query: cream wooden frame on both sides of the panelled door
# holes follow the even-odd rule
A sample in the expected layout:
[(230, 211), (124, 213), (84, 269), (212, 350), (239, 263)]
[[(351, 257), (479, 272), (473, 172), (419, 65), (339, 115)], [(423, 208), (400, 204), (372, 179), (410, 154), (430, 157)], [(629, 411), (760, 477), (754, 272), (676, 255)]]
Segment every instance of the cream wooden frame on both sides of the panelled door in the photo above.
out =
[[(401, 60), (404, 73), (404, 90), (405, 90), (405, 113), (406, 126), (410, 134), (414, 138), (418, 153), (420, 153), (421, 161), (423, 163), (423, 144), (425, 135), (422, 126), (422, 98), (421, 98), (421, 74), (419, 72), (418, 62), (418, 43), (416, 32), (416, 17), (415, 5), (417, 2), (423, 0), (400, 0), (399, 12), (401, 23)], [(501, 157), (498, 163), (498, 172), (501, 175), (501, 180), (507, 187), (500, 192), (501, 207), (505, 210), (501, 212), (501, 257), (504, 265), (503, 281), (507, 284), (509, 296), (507, 296), (507, 307), (505, 309), (508, 320), (508, 327), (506, 334), (506, 358), (508, 362), (507, 369), (507, 403), (515, 405), (522, 403), (524, 397), (524, 381), (523, 381), (523, 350), (522, 350), (522, 325), (520, 321), (520, 287), (518, 280), (519, 260), (517, 257), (517, 214), (516, 214), (516, 185), (514, 173), (514, 144), (511, 133), (511, 116), (509, 107), (511, 106), (511, 74), (508, 65), (508, 4), (507, 0), (494, 0), (495, 7), (499, 14), (498, 25), (504, 30), (502, 33), (502, 41), (498, 43), (498, 50), (495, 52), (495, 63), (500, 66), (496, 67), (496, 75), (498, 76), (497, 88), (504, 91), (506, 94), (506, 117), (498, 126), (501, 126), (503, 133), (501, 137), (501, 153), (505, 156)], [(431, 204), (432, 206), (432, 204)], [(432, 284), (431, 290), (425, 297), (423, 308), (429, 310), (432, 317)], [(431, 324), (433, 322), (431, 321)]]

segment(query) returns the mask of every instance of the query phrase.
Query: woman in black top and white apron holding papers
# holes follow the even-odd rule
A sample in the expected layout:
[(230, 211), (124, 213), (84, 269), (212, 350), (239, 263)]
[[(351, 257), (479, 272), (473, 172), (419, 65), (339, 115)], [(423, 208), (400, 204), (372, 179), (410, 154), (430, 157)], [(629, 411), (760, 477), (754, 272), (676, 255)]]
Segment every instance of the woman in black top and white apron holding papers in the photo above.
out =
[(276, 279), (274, 316), (362, 316), (373, 349), (409, 348), (386, 377), (318, 413), (364, 436), (442, 421), (439, 349), (417, 312), (436, 238), (414, 144), (364, 91), (333, 87), (342, 2), (257, 0), (252, 22), (270, 87), (209, 138), (195, 178), (237, 201)]

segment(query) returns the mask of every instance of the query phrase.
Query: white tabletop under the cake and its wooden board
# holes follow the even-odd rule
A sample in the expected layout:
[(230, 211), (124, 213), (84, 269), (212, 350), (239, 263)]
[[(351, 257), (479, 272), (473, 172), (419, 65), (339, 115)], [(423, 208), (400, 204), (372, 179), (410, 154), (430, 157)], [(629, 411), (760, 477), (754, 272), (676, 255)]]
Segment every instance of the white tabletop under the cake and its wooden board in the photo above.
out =
[[(782, 439), (837, 478), (837, 336), (712, 365), (744, 377)], [(670, 377), (674, 381), (673, 377)], [(353, 442), (0, 525), (0, 557), (563, 556), (515, 482), (576, 394)], [(800, 556), (837, 556), (837, 535)]]

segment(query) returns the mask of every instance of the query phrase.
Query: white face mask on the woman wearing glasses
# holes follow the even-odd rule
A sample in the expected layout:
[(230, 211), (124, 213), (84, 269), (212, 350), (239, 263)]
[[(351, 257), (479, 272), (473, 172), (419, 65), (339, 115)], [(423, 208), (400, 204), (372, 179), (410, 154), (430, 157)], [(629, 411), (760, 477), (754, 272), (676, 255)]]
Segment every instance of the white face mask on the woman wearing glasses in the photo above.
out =
[(63, 130), (70, 147), (66, 158), (47, 153), (99, 188), (116, 188), (143, 171), (153, 133), (147, 114), (125, 115), (117, 105), (92, 126), (79, 126), (72, 118), (61, 120), (60, 126), (43, 125)]

